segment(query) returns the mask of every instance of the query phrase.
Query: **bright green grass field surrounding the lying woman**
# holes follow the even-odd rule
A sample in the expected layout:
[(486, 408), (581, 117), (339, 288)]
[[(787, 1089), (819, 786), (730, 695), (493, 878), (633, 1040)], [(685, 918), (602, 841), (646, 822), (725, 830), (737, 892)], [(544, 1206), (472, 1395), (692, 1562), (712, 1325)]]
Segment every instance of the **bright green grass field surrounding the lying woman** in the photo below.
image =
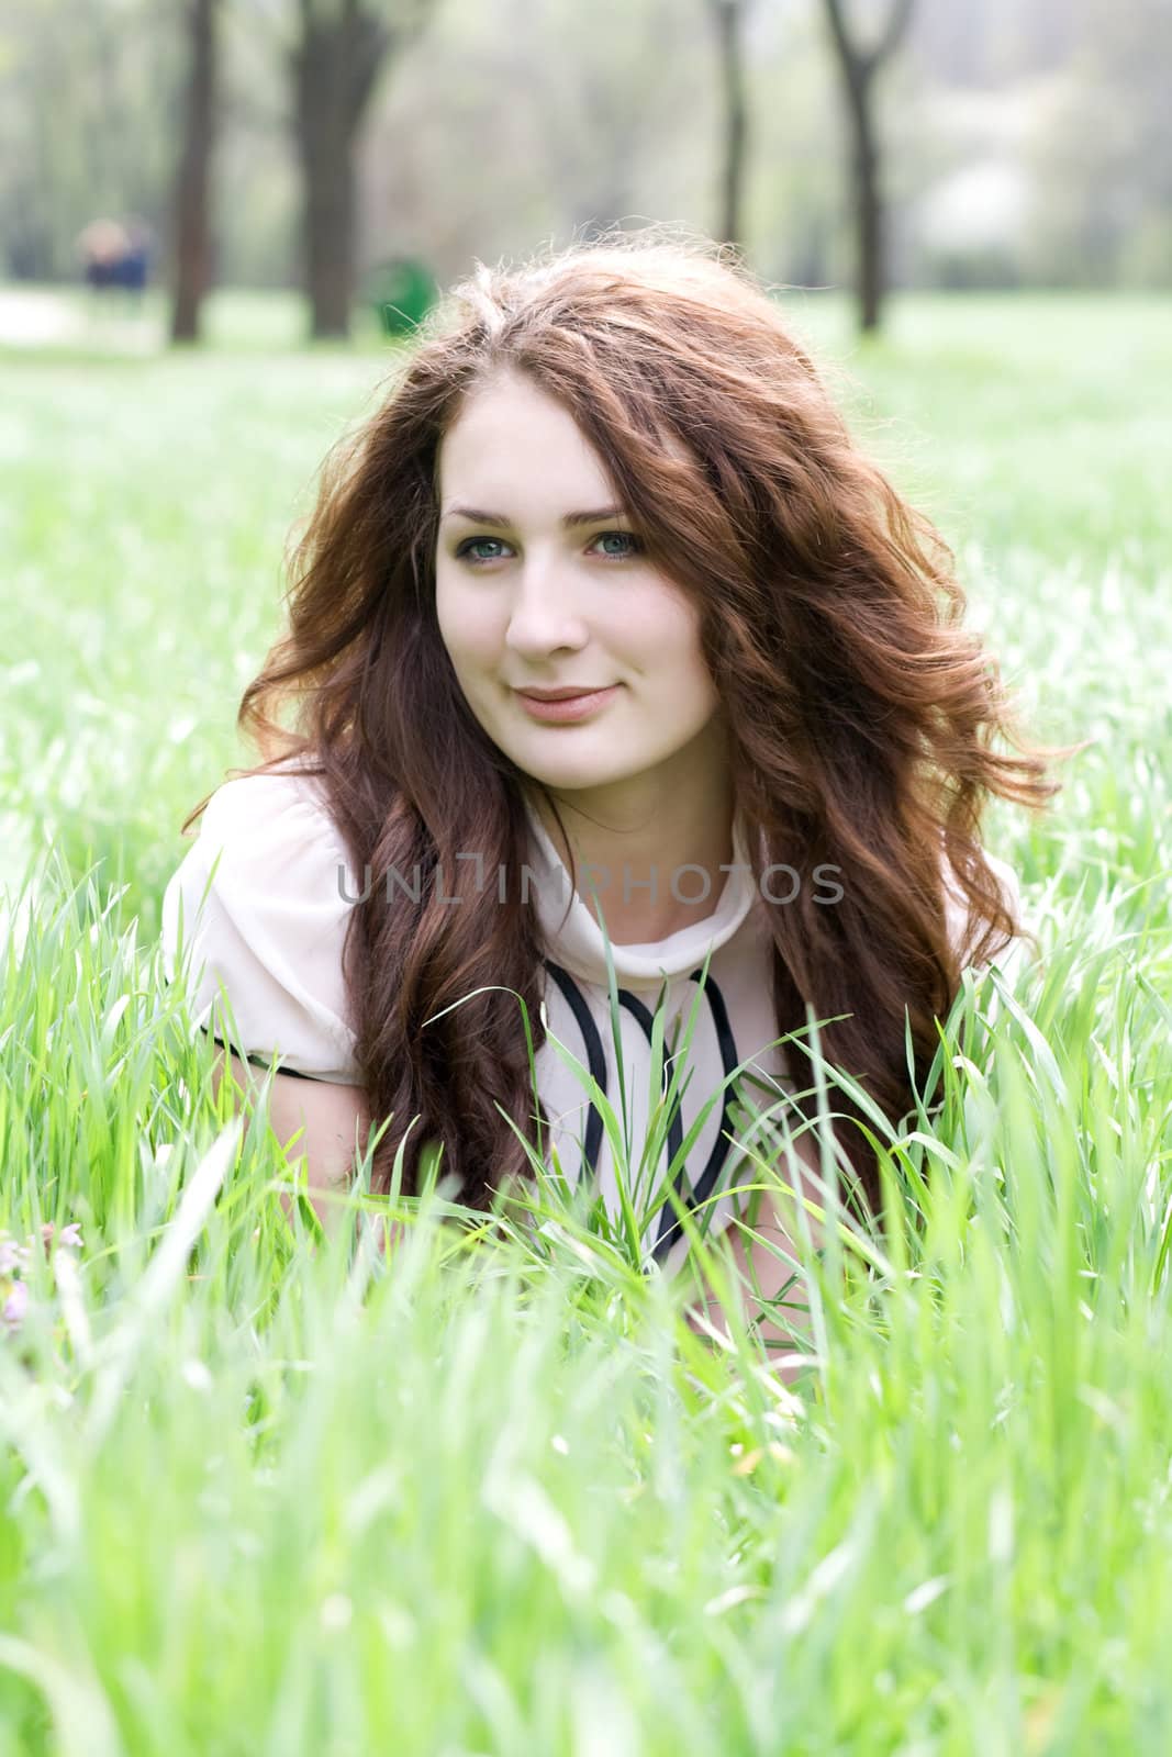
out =
[(0, 1228), (83, 1244), (0, 1334), (0, 1757), (1168, 1748), (1167, 313), (908, 297), (863, 348), (789, 304), (1037, 734), (1096, 738), (989, 813), (1044, 961), (959, 998), (794, 1392), (555, 1189), (503, 1240), (406, 1205), (390, 1265), (290, 1226), (162, 986), (179, 821), (385, 353), (255, 299), (209, 353), (4, 353)]

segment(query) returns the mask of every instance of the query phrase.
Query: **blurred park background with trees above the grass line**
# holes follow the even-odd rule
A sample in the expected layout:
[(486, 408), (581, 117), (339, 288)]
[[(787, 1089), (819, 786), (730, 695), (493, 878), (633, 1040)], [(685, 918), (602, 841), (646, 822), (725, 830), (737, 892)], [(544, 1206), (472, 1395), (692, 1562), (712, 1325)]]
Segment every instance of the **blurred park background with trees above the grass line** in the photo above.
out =
[(1167, 290), (1168, 67), (1167, 0), (7, 0), (0, 343), (199, 339), (225, 288), (362, 337), (647, 220), (865, 327)]

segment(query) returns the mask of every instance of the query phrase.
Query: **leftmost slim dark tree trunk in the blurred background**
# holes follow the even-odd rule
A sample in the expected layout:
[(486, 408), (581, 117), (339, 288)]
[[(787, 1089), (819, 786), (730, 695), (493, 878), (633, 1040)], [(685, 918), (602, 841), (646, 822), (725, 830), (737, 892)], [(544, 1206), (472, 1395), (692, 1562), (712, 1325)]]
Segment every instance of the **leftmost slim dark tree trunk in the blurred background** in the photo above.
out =
[(174, 199), (176, 295), (172, 341), (200, 339), (211, 286), (211, 156), (216, 135), (216, 0), (188, 4), (188, 88)]

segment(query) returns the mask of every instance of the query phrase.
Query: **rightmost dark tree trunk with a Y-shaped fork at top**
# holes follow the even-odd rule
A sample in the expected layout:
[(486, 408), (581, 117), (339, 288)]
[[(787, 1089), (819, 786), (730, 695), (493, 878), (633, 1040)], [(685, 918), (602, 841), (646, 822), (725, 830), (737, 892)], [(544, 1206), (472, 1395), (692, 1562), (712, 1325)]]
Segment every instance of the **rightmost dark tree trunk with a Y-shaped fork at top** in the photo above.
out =
[(914, 0), (891, 0), (887, 23), (868, 49), (850, 33), (845, 0), (826, 0), (826, 18), (850, 121), (856, 293), (863, 330), (879, 329), (886, 292), (886, 214), (875, 123), (875, 76), (900, 46), (912, 18), (912, 5)]

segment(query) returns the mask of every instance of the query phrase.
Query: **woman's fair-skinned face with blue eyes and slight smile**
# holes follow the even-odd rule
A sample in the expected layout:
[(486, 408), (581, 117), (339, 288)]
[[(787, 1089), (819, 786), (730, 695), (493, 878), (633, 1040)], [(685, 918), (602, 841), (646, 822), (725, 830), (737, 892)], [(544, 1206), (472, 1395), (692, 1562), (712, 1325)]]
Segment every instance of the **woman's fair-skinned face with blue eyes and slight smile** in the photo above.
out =
[[(511, 371), (480, 385), (439, 448), (439, 633), (492, 741), (555, 791), (678, 780), (719, 736), (698, 617), (561, 404)], [(562, 687), (610, 694), (562, 722), (518, 694)]]

